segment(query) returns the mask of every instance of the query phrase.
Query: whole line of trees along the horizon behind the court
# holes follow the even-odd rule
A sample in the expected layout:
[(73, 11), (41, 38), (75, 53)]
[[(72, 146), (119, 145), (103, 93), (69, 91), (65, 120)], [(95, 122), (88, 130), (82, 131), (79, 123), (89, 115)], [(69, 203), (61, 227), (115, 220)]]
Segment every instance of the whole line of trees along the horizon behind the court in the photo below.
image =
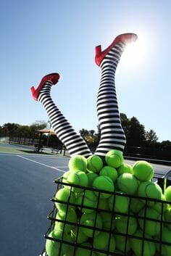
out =
[[(167, 158), (171, 159), (171, 141), (158, 141), (157, 134), (153, 129), (150, 131), (146, 131), (144, 125), (142, 125), (137, 117), (128, 118), (124, 113), (120, 114), (122, 128), (125, 132), (125, 136), (127, 139), (127, 144), (125, 146), (125, 152), (130, 153), (135, 149), (138, 152), (138, 148), (142, 148), (146, 150), (146, 154), (156, 154), (155, 152), (159, 151), (159, 154), (167, 155)], [(0, 137), (9, 136), (17, 137), (17, 138), (29, 138), (29, 139), (38, 139), (40, 137), (40, 133), (38, 130), (47, 127), (45, 121), (36, 121), (31, 125), (20, 125), (18, 123), (5, 123), (0, 126)], [(88, 146), (94, 151), (96, 146), (99, 144), (100, 139), (100, 128), (97, 125), (97, 131), (87, 130), (86, 128), (82, 128), (80, 130), (80, 135), (86, 141)], [(47, 136), (42, 136), (43, 144), (47, 143)], [(49, 146), (60, 147), (61, 141), (57, 138), (57, 136), (50, 136), (48, 138)]]

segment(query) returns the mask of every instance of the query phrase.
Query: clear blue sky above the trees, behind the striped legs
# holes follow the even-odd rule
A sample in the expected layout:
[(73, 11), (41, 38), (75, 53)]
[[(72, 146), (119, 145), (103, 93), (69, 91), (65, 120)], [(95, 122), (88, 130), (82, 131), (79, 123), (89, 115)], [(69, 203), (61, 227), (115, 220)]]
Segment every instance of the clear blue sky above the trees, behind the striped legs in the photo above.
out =
[(51, 96), (76, 131), (97, 130), (100, 70), (95, 47), (121, 33), (138, 40), (122, 54), (115, 85), (119, 110), (159, 141), (171, 141), (171, 2), (168, 0), (6, 0), (0, 9), (0, 125), (49, 120), (30, 87), (59, 73)]

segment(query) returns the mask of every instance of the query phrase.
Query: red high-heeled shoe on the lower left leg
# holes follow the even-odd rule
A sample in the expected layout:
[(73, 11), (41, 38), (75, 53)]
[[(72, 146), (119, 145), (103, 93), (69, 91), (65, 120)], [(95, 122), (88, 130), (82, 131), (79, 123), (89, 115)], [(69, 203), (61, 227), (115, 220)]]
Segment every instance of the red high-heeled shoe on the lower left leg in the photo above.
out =
[(33, 99), (35, 99), (36, 101), (38, 100), (38, 94), (41, 91), (41, 88), (43, 87), (44, 83), (46, 83), (47, 81), (51, 81), (51, 83), (56, 84), (59, 80), (59, 77), (60, 76), (58, 73), (51, 73), (49, 75), (45, 75), (41, 79), (41, 83), (39, 84), (38, 88), (35, 89), (34, 86), (31, 87)]

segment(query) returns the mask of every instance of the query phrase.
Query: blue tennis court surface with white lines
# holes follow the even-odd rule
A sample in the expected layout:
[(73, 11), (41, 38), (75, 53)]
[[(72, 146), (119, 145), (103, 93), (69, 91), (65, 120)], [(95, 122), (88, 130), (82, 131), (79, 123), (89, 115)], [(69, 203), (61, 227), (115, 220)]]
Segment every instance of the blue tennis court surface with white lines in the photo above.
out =
[[(53, 209), (54, 179), (68, 170), (70, 157), (43, 154), (0, 154), (0, 255), (38, 256)], [(125, 160), (130, 165), (133, 161)], [(168, 166), (154, 165), (166, 173)]]

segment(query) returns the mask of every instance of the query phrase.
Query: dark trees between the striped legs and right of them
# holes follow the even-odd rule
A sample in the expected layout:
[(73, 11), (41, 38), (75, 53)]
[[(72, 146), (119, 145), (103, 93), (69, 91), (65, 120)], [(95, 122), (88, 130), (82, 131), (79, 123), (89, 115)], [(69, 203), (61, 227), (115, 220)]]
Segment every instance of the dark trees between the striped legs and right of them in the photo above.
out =
[[(171, 160), (171, 141), (159, 142), (156, 132), (151, 129), (146, 131), (138, 118), (128, 118), (124, 113), (120, 114), (122, 128), (125, 132), (127, 144), (125, 154), (142, 154), (146, 157), (158, 157), (159, 159)], [(80, 135), (85, 139), (88, 146), (96, 149), (100, 139), (100, 128), (97, 126), (97, 132), (94, 130), (80, 130)]]

